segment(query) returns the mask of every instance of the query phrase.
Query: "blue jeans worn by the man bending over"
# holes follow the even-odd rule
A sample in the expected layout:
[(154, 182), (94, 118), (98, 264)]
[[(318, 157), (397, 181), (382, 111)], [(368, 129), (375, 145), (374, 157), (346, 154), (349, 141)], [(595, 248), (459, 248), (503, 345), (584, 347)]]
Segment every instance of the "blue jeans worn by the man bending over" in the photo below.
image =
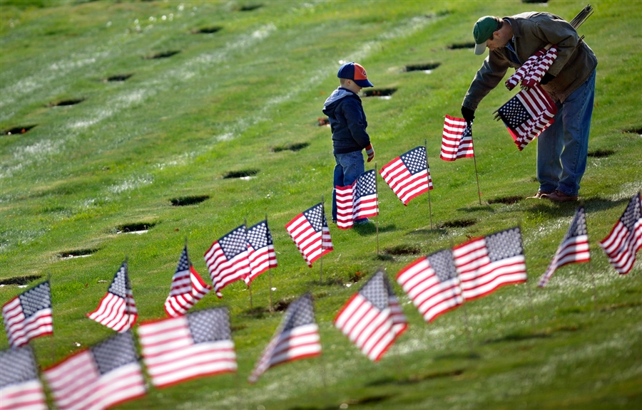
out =
[(586, 170), (595, 70), (564, 102), (556, 102), (555, 122), (537, 137), (537, 180), (541, 191), (576, 196)]

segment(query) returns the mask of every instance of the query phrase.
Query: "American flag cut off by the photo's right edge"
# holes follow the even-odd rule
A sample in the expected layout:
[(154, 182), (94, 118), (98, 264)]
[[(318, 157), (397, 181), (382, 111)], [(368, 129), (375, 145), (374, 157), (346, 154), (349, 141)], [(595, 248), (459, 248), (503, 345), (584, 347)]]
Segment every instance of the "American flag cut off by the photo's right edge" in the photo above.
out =
[(608, 261), (621, 275), (631, 271), (636, 262), (636, 253), (642, 248), (641, 209), (642, 195), (638, 192), (629, 201), (611, 233), (600, 242)]

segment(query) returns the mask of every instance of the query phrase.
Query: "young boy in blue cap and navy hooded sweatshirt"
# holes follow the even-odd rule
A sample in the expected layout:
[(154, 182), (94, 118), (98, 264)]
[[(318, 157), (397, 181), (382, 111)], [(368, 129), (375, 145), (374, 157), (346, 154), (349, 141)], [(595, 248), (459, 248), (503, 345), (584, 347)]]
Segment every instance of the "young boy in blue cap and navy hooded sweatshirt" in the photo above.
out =
[[(335, 186), (355, 182), (365, 171), (362, 149), (366, 149), (368, 162), (374, 159), (374, 149), (366, 132), (368, 122), (359, 93), (372, 87), (365, 68), (357, 63), (345, 63), (337, 73), (340, 87), (325, 100), (323, 113), (330, 120), (332, 147), (335, 155), (335, 178), (332, 184), (332, 222), (337, 222), (337, 193)], [(355, 224), (365, 224), (368, 219), (357, 219)]]

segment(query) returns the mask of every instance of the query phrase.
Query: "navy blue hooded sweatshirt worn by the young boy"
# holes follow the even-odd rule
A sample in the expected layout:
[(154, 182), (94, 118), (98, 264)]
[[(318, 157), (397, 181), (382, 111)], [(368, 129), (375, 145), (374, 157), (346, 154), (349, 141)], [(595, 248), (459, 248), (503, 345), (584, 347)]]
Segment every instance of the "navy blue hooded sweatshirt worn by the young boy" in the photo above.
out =
[(325, 100), (323, 113), (330, 120), (335, 154), (361, 151), (370, 145), (370, 136), (365, 130), (368, 122), (359, 95), (337, 88)]

